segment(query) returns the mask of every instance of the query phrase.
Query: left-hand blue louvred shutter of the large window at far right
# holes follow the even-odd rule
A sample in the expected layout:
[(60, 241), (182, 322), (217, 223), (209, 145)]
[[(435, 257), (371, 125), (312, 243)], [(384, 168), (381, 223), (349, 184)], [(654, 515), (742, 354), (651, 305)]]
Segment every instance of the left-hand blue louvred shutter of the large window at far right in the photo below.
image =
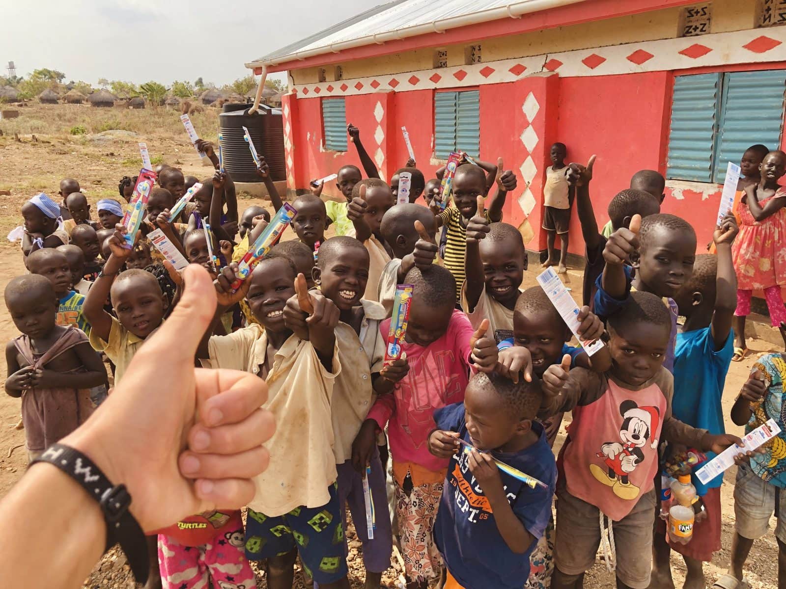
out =
[(720, 78), (720, 74), (701, 74), (674, 79), (667, 178), (712, 180)]

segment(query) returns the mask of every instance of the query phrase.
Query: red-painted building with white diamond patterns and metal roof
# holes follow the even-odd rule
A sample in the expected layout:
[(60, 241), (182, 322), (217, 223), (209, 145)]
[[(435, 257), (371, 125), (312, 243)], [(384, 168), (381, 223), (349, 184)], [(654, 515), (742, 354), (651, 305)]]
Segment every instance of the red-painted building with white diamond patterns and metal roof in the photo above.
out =
[[(426, 177), (456, 148), (519, 177), (505, 221), (538, 231), (549, 147), (597, 154), (591, 195), (608, 201), (644, 168), (667, 177), (663, 211), (711, 240), (726, 162), (782, 145), (784, 0), (399, 0), (247, 64), (288, 71), (288, 188), (358, 163), (353, 123), (389, 179), (409, 131)], [(332, 188), (332, 187), (331, 187)], [(326, 193), (340, 196), (335, 189)], [(571, 252), (583, 243), (575, 212)]]

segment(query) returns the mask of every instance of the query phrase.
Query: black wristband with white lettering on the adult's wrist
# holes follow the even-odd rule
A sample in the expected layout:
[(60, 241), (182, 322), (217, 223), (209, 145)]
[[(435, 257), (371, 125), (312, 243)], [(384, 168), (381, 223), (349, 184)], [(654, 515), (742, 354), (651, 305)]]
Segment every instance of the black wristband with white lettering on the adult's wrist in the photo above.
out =
[(112, 485), (86, 455), (64, 444), (52, 444), (31, 464), (50, 463), (82, 485), (88, 495), (101, 507), (106, 521), (105, 551), (120, 544), (126, 553), (131, 572), (138, 583), (147, 583), (150, 572), (150, 559), (145, 540), (145, 532), (128, 510), (131, 496), (126, 485)]

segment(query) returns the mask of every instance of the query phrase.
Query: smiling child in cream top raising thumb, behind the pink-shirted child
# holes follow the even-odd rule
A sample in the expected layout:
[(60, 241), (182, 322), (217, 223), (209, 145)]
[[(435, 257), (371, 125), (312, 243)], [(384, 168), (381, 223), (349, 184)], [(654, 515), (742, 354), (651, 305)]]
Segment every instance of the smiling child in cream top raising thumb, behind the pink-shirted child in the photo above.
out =
[(467, 278), (461, 286), (461, 308), (476, 329), (489, 320), (490, 334), (499, 343), (513, 335), (513, 308), (527, 269), (521, 233), (507, 223), (486, 219), (482, 199), (467, 225)]

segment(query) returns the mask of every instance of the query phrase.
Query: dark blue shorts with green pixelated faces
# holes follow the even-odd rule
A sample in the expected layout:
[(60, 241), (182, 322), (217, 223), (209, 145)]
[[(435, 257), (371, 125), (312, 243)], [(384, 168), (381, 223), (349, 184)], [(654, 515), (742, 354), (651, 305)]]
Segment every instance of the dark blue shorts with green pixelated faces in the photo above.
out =
[(336, 483), (330, 500), (321, 507), (296, 507), (273, 518), (248, 510), (245, 552), (259, 561), (297, 548), (303, 568), (318, 584), (335, 583), (347, 576), (344, 531)]

